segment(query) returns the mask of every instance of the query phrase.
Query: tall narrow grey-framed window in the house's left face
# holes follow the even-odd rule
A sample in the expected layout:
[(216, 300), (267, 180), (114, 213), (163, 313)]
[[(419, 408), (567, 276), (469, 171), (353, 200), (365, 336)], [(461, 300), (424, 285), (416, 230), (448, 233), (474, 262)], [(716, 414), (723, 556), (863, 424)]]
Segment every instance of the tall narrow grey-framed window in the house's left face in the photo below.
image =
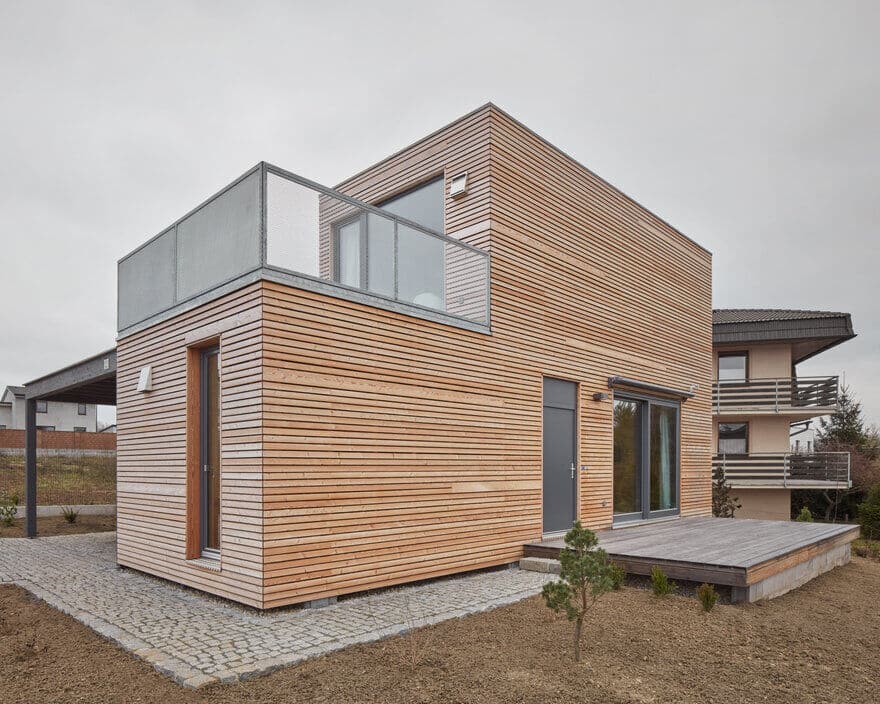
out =
[(220, 551), (220, 350), (201, 352), (201, 549), (207, 557)]

